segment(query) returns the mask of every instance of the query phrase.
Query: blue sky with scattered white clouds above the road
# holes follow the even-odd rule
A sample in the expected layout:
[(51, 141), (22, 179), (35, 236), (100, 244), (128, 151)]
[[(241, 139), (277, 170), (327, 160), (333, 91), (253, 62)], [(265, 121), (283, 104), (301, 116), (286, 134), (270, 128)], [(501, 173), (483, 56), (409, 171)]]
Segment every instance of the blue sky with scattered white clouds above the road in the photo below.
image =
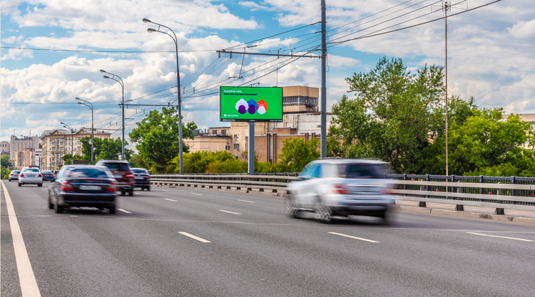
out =
[[(535, 113), (535, 6), (484, 6), (493, 1), (451, 2), (447, 14), (458, 15), (447, 19), (448, 93), (505, 113)], [(345, 78), (370, 71), (383, 56), (402, 58), (413, 72), (444, 66), (445, 22), (432, 21), (444, 16), (444, 2), (326, 2), (327, 111), (342, 95), (351, 97)], [(0, 140), (41, 135), (61, 122), (91, 127), (91, 110), (77, 97), (93, 104), (96, 128), (120, 129), (122, 88), (101, 69), (123, 80), (126, 103), (176, 103), (173, 32), (148, 33), (158, 25), (143, 18), (176, 35), (186, 123), (228, 125), (220, 123), (220, 85), (321, 86), (319, 58), (216, 52), (319, 55), (320, 0), (1, 0), (0, 11)], [(243, 78), (230, 78), (240, 71)], [(154, 108), (125, 109), (127, 141)]]

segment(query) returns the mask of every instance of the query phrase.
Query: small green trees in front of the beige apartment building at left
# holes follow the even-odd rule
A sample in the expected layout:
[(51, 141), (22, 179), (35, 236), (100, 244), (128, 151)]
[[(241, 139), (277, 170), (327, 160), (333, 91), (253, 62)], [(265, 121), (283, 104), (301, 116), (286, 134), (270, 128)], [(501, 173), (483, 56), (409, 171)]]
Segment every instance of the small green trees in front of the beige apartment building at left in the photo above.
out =
[[(91, 137), (83, 137), (82, 142), (82, 152), (83, 157), (81, 160), (91, 160)], [(128, 142), (125, 140), (125, 147), (128, 145)], [(113, 138), (95, 138), (93, 143), (93, 150), (95, 154), (95, 163), (98, 160), (119, 160), (121, 155), (123, 155), (123, 141), (121, 137)], [(132, 150), (125, 148), (125, 159), (128, 160), (131, 158)], [(76, 157), (76, 156), (75, 156)], [(70, 160), (70, 159), (69, 159)], [(76, 159), (75, 159), (76, 160)]]

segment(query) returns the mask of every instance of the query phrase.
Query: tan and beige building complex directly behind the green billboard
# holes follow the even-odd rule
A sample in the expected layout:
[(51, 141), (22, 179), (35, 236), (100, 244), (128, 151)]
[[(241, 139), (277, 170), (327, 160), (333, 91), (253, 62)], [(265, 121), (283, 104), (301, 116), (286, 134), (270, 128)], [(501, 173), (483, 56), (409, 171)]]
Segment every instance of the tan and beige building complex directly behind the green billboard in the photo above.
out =
[[(317, 111), (319, 88), (306, 86), (282, 87), (282, 122), (255, 123), (255, 152), (260, 162), (277, 162), (282, 152), (282, 141), (288, 138), (302, 140), (320, 137), (321, 114)], [(333, 118), (327, 113), (327, 130)], [(249, 123), (230, 122), (230, 127), (210, 127), (198, 131), (194, 140), (184, 140), (190, 152), (226, 150), (235, 158), (243, 159), (248, 150)]]

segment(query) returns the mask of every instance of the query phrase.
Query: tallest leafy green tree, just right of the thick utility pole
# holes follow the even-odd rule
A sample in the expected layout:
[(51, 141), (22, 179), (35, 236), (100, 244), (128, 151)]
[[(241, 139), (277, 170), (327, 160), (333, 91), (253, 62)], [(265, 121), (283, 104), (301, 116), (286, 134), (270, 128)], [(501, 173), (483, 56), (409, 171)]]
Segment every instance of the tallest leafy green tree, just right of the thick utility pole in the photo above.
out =
[(412, 74), (402, 59), (382, 58), (368, 73), (346, 78), (348, 92), (332, 107), (331, 135), (343, 137), (345, 157), (375, 157), (396, 172), (419, 171), (419, 152), (442, 127), (442, 67)]

